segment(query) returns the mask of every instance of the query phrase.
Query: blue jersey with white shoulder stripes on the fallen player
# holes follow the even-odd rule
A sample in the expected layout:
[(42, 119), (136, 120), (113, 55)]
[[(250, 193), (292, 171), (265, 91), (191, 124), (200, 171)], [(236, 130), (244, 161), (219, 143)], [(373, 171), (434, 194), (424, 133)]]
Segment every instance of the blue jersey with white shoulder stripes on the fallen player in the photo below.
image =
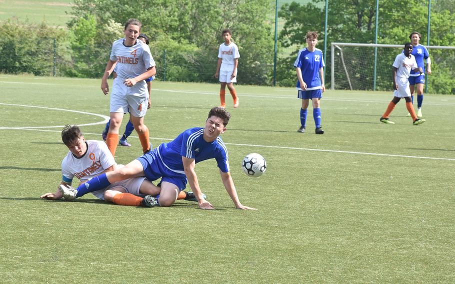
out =
[(181, 157), (193, 158), (195, 162), (215, 158), (222, 172), (229, 171), (227, 149), (221, 137), (212, 142), (203, 139), (202, 127), (189, 128), (178, 134), (168, 143), (158, 146), (158, 154), (163, 164), (170, 170), (184, 173)]

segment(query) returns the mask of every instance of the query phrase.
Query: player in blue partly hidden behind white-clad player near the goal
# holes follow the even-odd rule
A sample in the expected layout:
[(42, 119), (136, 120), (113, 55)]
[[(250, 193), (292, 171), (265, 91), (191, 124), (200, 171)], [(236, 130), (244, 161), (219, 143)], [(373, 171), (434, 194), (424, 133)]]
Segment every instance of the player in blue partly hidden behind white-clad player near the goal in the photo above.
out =
[(422, 102), (423, 102), (423, 84), (425, 83), (425, 64), (423, 59), (426, 60), (426, 73), (431, 74), (431, 59), (429, 58), (428, 49), (418, 43), (421, 38), (418, 31), (414, 31), (409, 35), (412, 43), (411, 54), (415, 57), (417, 66), (423, 69), (422, 74), (411, 70), (409, 74), (409, 89), (411, 92), (411, 102), (414, 101), (414, 89), (417, 89), (417, 117), (422, 117)]

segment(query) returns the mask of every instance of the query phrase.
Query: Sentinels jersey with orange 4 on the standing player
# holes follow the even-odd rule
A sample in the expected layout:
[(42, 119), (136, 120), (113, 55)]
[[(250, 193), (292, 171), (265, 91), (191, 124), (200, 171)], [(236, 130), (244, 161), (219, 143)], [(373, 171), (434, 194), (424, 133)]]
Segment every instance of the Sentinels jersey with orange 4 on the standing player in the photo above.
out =
[(117, 61), (115, 72), (121, 80), (136, 77), (155, 66), (150, 48), (142, 40), (132, 46), (124, 45), (124, 38), (115, 40), (110, 51), (110, 60)]

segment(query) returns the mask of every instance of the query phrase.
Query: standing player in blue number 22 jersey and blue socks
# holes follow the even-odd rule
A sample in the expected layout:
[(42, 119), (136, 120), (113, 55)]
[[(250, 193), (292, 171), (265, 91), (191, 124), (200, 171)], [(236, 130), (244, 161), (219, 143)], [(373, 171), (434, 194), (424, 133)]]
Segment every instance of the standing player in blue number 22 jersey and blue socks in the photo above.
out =
[(308, 31), (306, 33), (306, 48), (298, 51), (294, 67), (297, 72), (297, 97), (301, 98), (300, 108), (300, 128), (297, 132), (305, 132), (306, 129), (306, 112), (311, 99), (313, 105), (313, 118), (315, 124), (315, 133), (323, 134), (320, 122), (320, 99), (322, 92), (325, 90), (324, 85), (324, 57), (322, 50), (316, 48), (317, 33)]

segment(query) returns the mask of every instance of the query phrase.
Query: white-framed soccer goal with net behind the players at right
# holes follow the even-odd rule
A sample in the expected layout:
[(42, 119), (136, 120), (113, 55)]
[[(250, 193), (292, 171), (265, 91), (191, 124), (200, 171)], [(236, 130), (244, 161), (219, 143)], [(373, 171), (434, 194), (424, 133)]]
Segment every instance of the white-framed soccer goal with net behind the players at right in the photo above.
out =
[[(403, 46), (332, 42), (331, 89), (391, 90), (392, 64)], [(431, 59), (431, 75), (425, 76), (428, 92), (455, 94), (455, 46), (426, 48)]]

